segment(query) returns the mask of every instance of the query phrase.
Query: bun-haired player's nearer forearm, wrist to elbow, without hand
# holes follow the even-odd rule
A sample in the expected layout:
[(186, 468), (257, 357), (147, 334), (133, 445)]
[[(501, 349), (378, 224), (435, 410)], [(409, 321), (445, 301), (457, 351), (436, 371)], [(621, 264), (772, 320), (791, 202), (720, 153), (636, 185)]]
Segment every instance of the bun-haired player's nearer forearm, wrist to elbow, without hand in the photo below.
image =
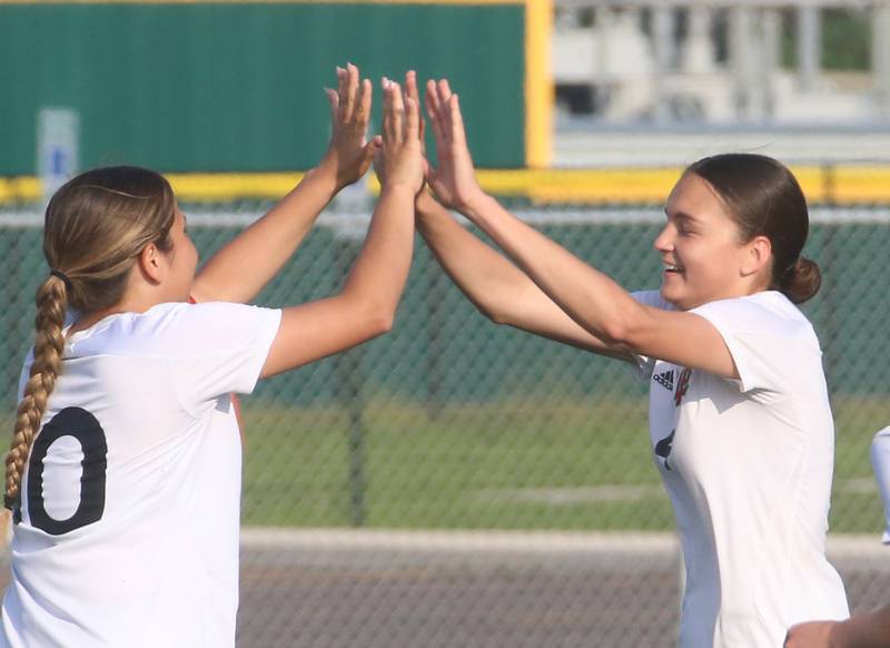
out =
[(467, 216), (565, 313), (596, 337), (625, 342), (645, 310), (617, 283), (481, 196)]

